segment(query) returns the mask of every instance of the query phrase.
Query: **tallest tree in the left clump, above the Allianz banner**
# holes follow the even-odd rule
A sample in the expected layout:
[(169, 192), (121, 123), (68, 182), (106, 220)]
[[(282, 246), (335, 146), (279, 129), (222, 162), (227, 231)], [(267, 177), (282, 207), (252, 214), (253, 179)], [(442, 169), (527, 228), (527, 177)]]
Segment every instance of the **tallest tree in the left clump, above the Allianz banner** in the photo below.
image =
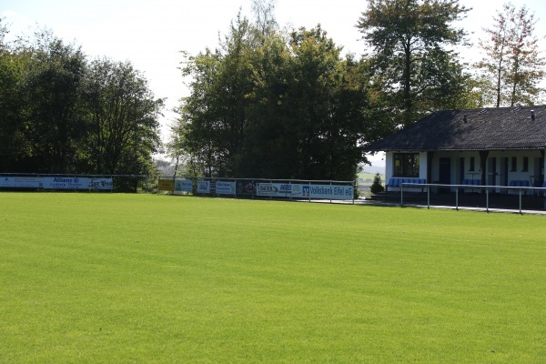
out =
[(79, 46), (66, 45), (50, 30), (38, 29), (20, 39), (16, 49), (25, 65), (18, 96), (24, 106), (25, 138), (30, 151), (26, 171), (74, 171), (79, 141), (84, 137), (79, 101), (86, 56)]

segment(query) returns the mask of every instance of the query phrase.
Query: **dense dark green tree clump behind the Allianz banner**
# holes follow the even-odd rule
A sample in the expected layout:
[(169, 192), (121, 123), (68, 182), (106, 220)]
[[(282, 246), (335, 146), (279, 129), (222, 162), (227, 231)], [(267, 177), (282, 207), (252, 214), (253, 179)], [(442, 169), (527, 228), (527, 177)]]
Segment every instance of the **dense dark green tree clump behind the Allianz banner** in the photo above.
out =
[(130, 62), (89, 59), (47, 29), (7, 44), (0, 23), (0, 171), (149, 174), (156, 99)]

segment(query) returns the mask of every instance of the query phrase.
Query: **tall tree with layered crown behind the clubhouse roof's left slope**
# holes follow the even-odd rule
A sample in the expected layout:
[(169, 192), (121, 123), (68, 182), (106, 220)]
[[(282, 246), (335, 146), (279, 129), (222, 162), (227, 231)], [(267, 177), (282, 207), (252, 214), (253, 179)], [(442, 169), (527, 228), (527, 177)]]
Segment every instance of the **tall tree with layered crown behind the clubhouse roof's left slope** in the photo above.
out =
[(372, 47), (377, 96), (385, 98), (381, 104), (389, 105), (394, 124), (449, 106), (446, 100), (464, 89), (462, 67), (448, 46), (464, 41), (464, 31), (451, 24), (468, 11), (458, 0), (369, 0), (357, 27)]

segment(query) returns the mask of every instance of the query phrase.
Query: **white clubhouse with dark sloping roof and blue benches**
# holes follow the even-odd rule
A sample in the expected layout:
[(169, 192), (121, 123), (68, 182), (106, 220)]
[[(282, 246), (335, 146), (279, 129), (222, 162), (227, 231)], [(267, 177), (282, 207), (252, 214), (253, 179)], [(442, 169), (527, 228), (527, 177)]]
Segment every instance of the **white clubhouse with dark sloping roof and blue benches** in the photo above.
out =
[(546, 106), (439, 111), (369, 147), (386, 152), (389, 190), (400, 181), (542, 187), (545, 149)]

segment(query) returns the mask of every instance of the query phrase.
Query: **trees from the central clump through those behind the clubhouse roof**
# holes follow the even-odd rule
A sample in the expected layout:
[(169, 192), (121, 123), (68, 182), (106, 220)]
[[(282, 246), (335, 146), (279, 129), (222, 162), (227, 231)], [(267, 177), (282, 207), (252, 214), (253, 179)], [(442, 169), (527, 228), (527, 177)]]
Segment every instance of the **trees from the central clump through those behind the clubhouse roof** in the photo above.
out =
[(369, 0), (356, 22), (365, 54), (342, 56), (320, 25), (281, 29), (274, 1), (253, 2), (214, 48), (186, 55), (183, 99), (168, 150), (190, 174), (351, 180), (369, 143), (440, 109), (541, 100), (536, 20), (505, 5), (486, 29), (484, 59), (458, 0)]

